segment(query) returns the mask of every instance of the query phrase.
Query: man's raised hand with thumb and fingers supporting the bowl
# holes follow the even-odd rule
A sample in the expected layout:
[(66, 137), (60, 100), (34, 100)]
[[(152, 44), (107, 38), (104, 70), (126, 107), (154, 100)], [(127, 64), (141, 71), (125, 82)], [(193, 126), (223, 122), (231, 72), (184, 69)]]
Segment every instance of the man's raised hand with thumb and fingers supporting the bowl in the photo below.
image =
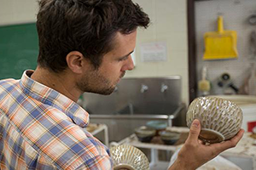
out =
[(169, 170), (195, 170), (197, 167), (212, 160), (224, 150), (233, 148), (241, 139), (244, 130), (240, 130), (230, 140), (217, 144), (202, 144), (198, 139), (201, 131), (201, 124), (198, 120), (194, 120), (189, 130), (189, 137), (178, 153), (177, 160), (172, 164)]

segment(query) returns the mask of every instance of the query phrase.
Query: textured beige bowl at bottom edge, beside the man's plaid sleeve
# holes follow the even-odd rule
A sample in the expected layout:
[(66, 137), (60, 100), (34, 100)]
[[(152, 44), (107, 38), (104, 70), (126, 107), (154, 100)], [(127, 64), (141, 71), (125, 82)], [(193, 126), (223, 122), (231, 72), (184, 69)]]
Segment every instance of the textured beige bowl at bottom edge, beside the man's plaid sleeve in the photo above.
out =
[(149, 170), (147, 156), (134, 146), (122, 144), (110, 149), (113, 170)]

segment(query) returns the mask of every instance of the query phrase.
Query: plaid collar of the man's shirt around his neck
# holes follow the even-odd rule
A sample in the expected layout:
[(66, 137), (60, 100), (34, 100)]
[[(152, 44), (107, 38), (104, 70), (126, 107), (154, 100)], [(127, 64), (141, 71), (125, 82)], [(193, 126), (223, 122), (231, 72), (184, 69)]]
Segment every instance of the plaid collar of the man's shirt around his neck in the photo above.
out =
[(87, 111), (84, 111), (82, 107), (73, 102), (72, 99), (67, 98), (65, 95), (52, 88), (44, 86), (44, 84), (32, 80), (30, 77), (33, 72), (34, 71), (32, 70), (23, 72), (20, 79), (20, 88), (23, 92), (31, 96), (33, 99), (41, 101), (45, 105), (53, 106), (64, 112), (80, 127), (86, 127), (89, 123), (89, 114)]

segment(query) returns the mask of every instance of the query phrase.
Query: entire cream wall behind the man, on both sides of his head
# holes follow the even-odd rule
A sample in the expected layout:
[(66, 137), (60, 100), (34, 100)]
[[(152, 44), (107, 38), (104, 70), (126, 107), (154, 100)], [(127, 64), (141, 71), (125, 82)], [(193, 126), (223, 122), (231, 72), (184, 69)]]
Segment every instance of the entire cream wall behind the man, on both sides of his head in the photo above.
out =
[[(137, 36), (137, 65), (126, 77), (162, 77), (180, 75), (183, 102), (189, 101), (188, 36), (186, 0), (135, 0), (151, 18), (147, 30)], [(0, 26), (33, 22), (38, 11), (37, 0), (0, 0)], [(167, 61), (143, 63), (139, 45), (144, 42), (166, 42)]]

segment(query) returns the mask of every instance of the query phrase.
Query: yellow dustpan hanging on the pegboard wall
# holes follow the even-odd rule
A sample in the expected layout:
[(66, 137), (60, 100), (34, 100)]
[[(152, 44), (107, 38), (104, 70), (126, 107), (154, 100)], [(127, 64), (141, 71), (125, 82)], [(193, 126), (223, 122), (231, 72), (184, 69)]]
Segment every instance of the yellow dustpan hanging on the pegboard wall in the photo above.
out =
[(236, 31), (224, 31), (223, 18), (218, 16), (218, 31), (207, 32), (204, 36), (206, 51), (203, 59), (236, 59)]

